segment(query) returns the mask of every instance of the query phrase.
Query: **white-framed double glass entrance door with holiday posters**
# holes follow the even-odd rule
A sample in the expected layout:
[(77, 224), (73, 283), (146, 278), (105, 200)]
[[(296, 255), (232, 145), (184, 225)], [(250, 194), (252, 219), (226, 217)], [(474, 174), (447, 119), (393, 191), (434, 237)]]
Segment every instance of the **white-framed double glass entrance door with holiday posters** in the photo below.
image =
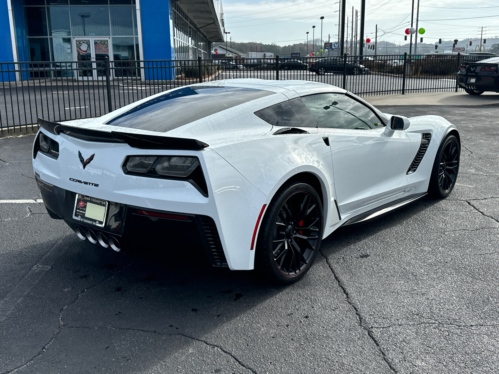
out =
[[(74, 51), (78, 68), (78, 79), (97, 80), (106, 78), (104, 58), (110, 53), (110, 38), (82, 37), (74, 38)], [(113, 77), (113, 71), (110, 72)]]

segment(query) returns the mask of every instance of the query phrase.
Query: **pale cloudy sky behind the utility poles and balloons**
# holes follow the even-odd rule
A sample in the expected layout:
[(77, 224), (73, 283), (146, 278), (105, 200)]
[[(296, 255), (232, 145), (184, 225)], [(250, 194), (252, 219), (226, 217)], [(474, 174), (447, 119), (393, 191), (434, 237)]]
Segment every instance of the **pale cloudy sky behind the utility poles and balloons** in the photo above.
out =
[[(315, 38), (337, 40), (339, 2), (334, 0), (222, 0), (226, 31), (236, 42), (257, 41), (288, 45), (312, 39), (312, 25), (315, 25)], [(459, 1), (459, 0), (457, 0)], [(416, 8), (414, 1), (414, 27)], [(366, 0), (365, 37), (374, 39), (378, 24), (378, 41), (386, 40), (396, 44), (404, 41), (404, 30), (410, 27), (412, 0)], [(476, 5), (476, 6), (473, 6)], [(351, 33), (352, 6), (358, 10), (358, 30), (360, 32), (360, 0), (346, 1), (348, 35)], [(355, 17), (355, 16), (354, 16)], [(418, 27), (425, 28), (424, 43), (443, 40), (480, 40), (481, 27), (484, 38), (499, 36), (499, 2), (497, 0), (465, 1), (420, 0)], [(354, 26), (355, 30), (355, 26)], [(350, 39), (350, 36), (348, 36)], [(418, 40), (419, 41), (419, 40)], [(475, 43), (473, 44), (475, 45)]]

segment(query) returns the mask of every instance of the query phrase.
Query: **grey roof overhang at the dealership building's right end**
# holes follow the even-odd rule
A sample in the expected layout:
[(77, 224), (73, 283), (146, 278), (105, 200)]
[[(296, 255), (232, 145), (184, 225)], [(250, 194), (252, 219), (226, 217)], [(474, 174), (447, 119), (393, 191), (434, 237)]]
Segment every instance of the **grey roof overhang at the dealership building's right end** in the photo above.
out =
[(177, 4), (208, 37), (208, 41), (224, 41), (222, 0), (178, 0)]

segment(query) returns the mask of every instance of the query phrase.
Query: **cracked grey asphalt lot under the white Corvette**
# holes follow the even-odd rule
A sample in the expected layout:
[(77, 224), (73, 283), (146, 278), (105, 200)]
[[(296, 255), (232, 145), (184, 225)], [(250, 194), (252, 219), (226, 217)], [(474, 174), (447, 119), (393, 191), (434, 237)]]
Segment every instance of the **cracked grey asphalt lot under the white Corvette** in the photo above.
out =
[(0, 139), (0, 373), (497, 373), (499, 106), (379, 108), (455, 123), (458, 185), (334, 232), (282, 287), (80, 241), (36, 202), (33, 136)]

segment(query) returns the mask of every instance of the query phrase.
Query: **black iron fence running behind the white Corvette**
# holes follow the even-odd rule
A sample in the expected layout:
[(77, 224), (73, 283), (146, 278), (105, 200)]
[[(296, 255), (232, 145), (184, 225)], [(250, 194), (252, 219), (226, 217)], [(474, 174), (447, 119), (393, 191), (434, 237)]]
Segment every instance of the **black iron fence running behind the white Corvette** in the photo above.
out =
[(0, 135), (36, 118), (99, 117), (175, 87), (220, 79), (323, 82), (359, 96), (457, 91), (458, 66), (482, 56), (377, 55), (163, 61), (0, 62)]

